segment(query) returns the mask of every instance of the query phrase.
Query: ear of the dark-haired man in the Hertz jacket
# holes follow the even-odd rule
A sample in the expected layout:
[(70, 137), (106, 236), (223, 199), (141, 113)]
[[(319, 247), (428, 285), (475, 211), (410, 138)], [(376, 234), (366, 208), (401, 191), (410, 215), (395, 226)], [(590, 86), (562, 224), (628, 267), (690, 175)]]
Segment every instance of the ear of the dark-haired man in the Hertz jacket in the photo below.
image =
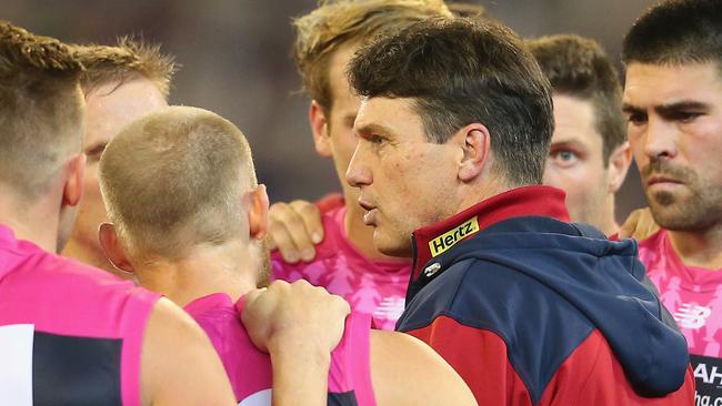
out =
[(462, 149), (459, 162), (459, 180), (471, 182), (482, 174), (490, 164), (491, 136), (485, 125), (472, 123), (459, 130), (453, 135)]

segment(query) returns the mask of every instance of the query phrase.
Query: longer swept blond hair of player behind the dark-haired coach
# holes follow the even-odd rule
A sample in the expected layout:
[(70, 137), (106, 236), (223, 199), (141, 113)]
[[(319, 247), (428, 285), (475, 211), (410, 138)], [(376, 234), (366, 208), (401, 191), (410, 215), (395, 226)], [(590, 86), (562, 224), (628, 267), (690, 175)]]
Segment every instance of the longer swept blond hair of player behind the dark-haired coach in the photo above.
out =
[(304, 89), (328, 113), (333, 99), (329, 67), (345, 44), (362, 44), (429, 17), (451, 17), (442, 0), (337, 0), (293, 20), (293, 58)]

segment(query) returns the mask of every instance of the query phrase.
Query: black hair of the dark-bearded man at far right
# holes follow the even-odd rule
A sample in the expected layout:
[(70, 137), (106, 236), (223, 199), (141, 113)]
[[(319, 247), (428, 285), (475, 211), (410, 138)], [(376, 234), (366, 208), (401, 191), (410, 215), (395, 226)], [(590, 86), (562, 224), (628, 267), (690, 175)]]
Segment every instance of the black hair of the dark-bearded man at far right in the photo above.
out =
[(722, 2), (663, 1), (649, 9), (624, 37), (624, 63), (716, 62), (722, 70)]

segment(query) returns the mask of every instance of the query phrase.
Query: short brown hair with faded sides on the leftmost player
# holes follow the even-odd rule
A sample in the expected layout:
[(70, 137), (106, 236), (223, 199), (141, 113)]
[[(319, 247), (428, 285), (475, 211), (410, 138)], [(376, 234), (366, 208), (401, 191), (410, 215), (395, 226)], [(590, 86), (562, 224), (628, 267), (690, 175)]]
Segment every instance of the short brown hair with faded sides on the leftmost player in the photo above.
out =
[(0, 21), (0, 183), (26, 202), (81, 152), (81, 71), (57, 39)]

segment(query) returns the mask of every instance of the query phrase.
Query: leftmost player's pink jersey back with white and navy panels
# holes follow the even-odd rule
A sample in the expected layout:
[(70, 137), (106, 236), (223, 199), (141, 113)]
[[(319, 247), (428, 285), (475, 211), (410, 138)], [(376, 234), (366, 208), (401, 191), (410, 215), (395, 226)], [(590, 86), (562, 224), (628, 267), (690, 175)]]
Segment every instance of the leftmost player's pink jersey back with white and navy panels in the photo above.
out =
[(139, 405), (158, 298), (0, 225), (0, 404)]

